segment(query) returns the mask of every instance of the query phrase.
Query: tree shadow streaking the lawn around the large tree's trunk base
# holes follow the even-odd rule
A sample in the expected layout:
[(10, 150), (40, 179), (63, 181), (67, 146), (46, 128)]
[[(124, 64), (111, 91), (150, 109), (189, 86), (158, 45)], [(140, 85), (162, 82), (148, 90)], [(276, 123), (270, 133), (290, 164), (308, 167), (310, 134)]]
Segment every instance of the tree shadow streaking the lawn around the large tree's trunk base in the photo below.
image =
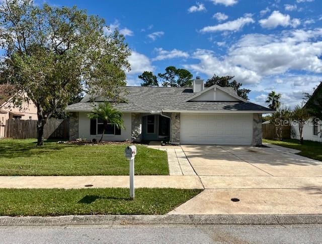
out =
[(43, 146), (38, 147), (36, 141), (22, 142), (14, 139), (12, 141), (0, 141), (0, 160), (1, 158), (32, 157), (38, 154), (52, 153), (66, 147), (75, 147), (74, 145), (56, 142), (56, 140), (46, 140)]

